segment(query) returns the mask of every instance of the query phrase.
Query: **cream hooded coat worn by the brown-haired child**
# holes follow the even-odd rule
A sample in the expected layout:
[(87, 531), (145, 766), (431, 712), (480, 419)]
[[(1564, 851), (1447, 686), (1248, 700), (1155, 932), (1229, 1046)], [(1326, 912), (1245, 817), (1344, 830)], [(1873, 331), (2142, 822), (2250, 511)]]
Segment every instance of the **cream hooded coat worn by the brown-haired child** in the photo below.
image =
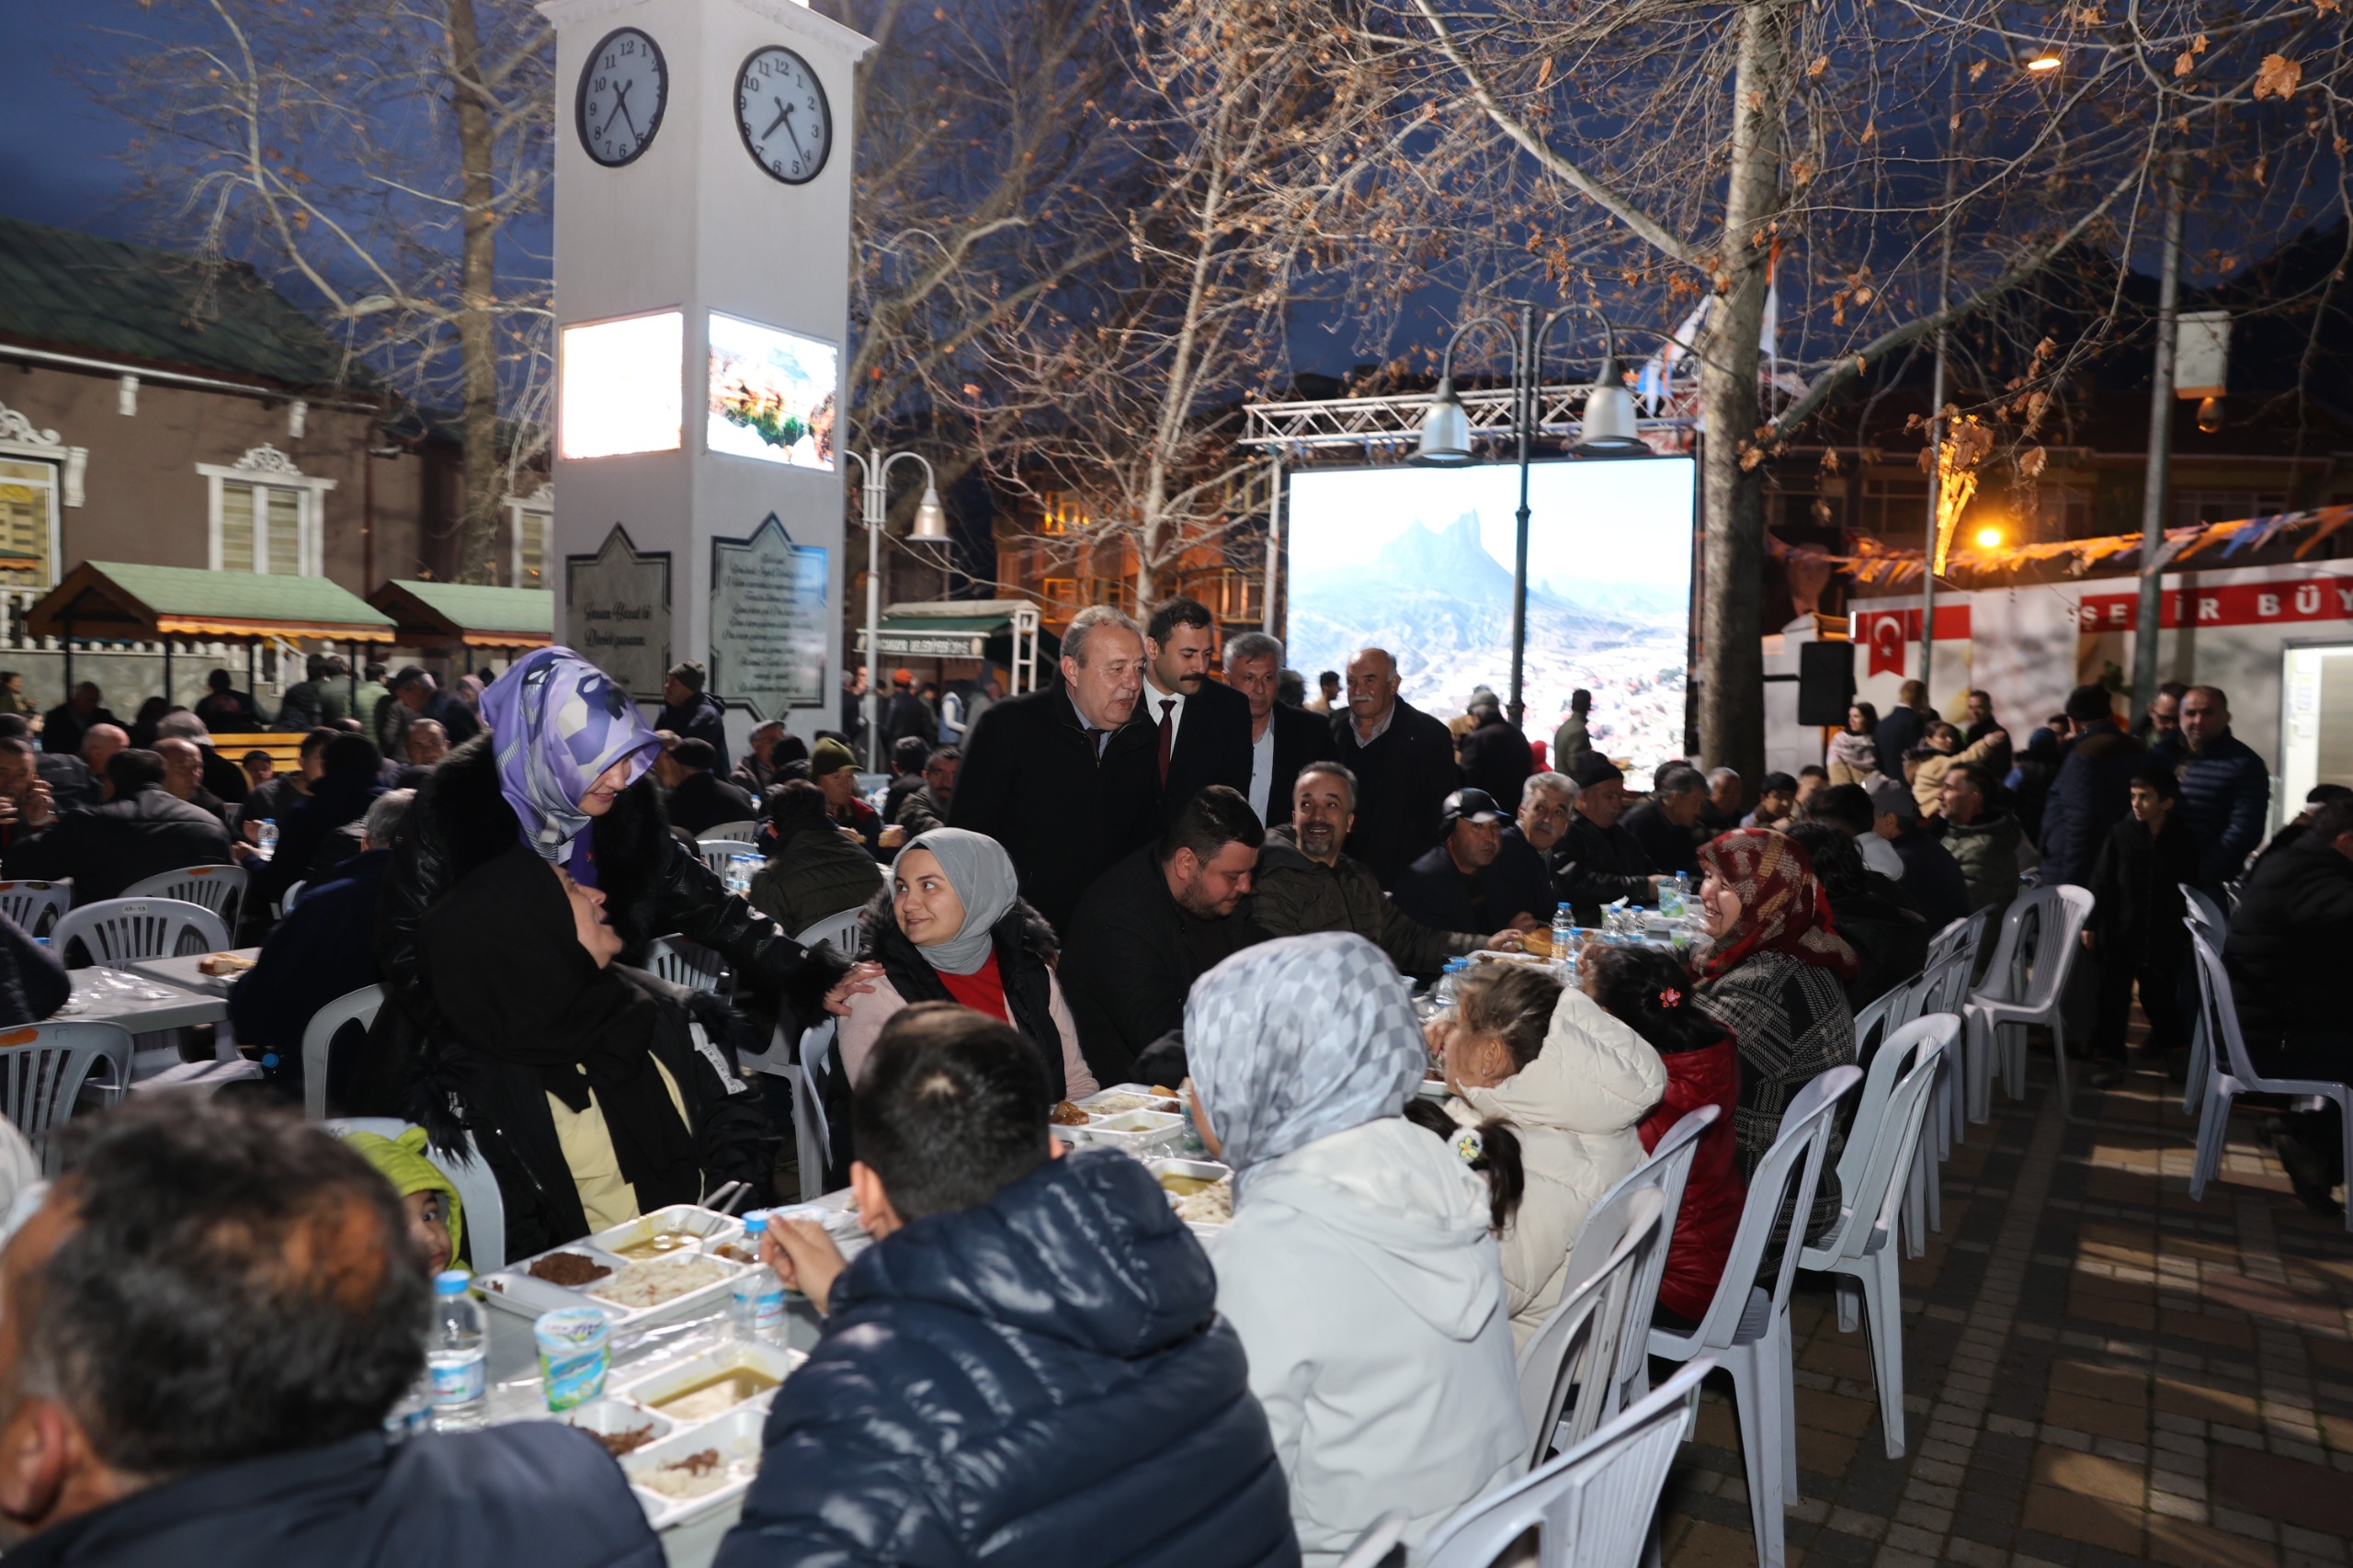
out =
[(1447, 1102), (1454, 1121), (1501, 1116), (1520, 1135), (1527, 1196), (1504, 1231), (1504, 1290), (1513, 1344), (1560, 1304), (1569, 1245), (1586, 1212), (1642, 1163), (1635, 1123), (1666, 1095), (1666, 1064), (1649, 1041), (1584, 991), (1560, 994), (1544, 1050), (1494, 1088)]

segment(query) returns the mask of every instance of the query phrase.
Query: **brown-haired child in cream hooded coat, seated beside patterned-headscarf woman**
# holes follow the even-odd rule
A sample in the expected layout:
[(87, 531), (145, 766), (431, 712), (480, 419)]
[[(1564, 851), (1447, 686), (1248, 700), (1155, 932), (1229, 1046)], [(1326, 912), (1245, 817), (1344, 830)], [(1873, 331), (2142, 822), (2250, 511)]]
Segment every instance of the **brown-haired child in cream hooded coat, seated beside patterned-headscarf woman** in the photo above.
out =
[(1560, 1304), (1586, 1215), (1642, 1163), (1633, 1130), (1666, 1067), (1586, 996), (1511, 963), (1473, 965), (1426, 1036), (1447, 1062), (1445, 1116), (1473, 1135), (1464, 1158), (1489, 1182), (1511, 1333), (1525, 1342)]

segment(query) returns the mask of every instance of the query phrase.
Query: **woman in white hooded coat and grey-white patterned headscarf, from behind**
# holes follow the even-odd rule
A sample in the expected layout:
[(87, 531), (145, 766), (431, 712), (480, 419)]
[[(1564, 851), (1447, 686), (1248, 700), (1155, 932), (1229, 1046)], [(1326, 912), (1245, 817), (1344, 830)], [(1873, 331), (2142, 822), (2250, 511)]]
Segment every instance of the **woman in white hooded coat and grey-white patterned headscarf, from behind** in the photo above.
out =
[(1405, 982), (1353, 932), (1285, 937), (1202, 975), (1184, 1024), (1195, 1125), (1235, 1170), (1217, 1309), (1299, 1552), (1329, 1568), (1391, 1509), (1419, 1547), (1527, 1436), (1487, 1184), (1400, 1116), (1428, 1062)]

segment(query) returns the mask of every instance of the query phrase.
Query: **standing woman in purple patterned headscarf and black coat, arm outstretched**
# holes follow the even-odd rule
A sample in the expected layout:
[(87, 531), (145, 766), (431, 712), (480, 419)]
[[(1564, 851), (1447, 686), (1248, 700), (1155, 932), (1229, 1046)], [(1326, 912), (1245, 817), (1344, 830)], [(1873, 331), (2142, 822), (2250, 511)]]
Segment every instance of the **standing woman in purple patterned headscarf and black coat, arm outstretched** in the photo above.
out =
[(628, 692), (569, 647), (541, 647), (482, 692), (482, 735), (416, 791), (384, 869), (376, 970), (395, 1005), (379, 1015), (353, 1114), (409, 1116), (435, 1144), (454, 1142), (426, 1118), (433, 1097), (416, 1092), (419, 1062), (431, 1064), (433, 1041), (449, 1034), (421, 972), (419, 932), (440, 899), (515, 843), (600, 890), (626, 949), (685, 935), (720, 954), (788, 1029), (819, 1017), (842, 961), (807, 954), (671, 833), (656, 756), (661, 739)]

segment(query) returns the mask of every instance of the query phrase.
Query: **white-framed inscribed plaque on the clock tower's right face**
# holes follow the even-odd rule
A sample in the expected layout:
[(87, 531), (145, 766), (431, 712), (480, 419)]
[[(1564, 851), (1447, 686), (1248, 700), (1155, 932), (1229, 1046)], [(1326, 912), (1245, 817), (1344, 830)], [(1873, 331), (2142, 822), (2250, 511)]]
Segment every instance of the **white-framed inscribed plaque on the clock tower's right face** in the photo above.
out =
[(826, 551), (776, 513), (711, 542), (711, 695), (776, 718), (826, 702)]

